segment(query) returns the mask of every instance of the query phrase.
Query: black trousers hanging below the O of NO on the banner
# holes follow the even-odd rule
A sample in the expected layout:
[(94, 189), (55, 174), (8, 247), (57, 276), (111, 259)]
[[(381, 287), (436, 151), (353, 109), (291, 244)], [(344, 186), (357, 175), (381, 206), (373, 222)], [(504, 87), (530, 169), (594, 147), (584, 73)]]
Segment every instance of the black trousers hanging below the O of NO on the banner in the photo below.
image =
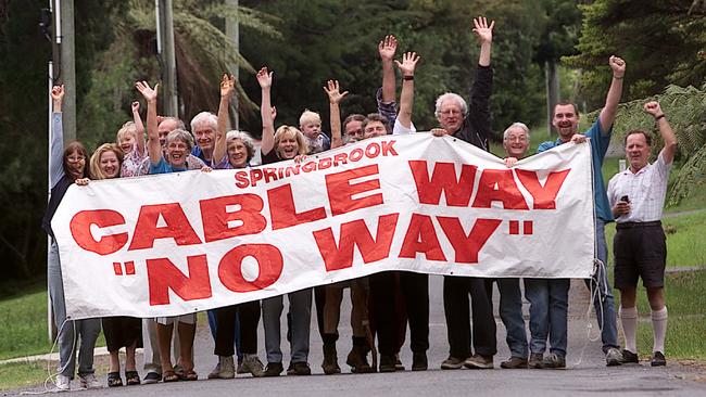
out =
[(257, 354), (257, 323), (260, 322), (260, 300), (216, 309), (216, 356), (232, 356), (236, 337), (236, 315), (240, 313), (240, 349), (244, 354)]

